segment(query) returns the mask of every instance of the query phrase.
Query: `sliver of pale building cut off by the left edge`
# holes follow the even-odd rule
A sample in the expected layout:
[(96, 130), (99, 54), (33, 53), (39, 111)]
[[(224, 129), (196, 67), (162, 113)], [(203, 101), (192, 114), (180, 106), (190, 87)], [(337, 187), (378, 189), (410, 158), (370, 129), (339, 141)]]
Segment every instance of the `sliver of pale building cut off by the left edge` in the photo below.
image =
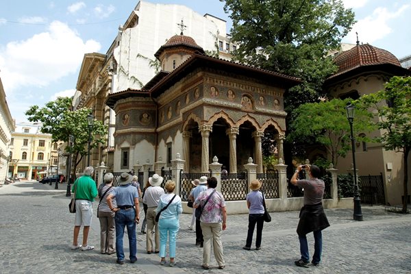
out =
[(14, 131), (14, 119), (5, 99), (3, 84), (0, 79), (0, 184), (4, 184), (9, 164), (9, 145)]

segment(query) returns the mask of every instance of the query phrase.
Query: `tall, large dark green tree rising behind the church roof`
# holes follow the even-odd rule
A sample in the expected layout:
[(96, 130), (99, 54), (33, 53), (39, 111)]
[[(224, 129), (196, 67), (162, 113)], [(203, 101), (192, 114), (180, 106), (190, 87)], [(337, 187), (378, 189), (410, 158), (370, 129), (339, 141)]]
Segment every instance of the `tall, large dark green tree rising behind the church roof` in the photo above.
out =
[(336, 71), (325, 56), (355, 23), (340, 0), (225, 0), (224, 10), (240, 45), (234, 60), (303, 80), (287, 92), (286, 111), (319, 101), (324, 80)]

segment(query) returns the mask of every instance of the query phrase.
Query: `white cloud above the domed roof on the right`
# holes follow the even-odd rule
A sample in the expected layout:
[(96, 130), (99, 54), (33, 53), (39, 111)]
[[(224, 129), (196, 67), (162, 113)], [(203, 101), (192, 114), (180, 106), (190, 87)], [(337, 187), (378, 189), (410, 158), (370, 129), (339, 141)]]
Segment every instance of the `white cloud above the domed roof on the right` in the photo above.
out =
[(356, 32), (358, 32), (360, 42), (372, 44), (390, 34), (393, 31), (390, 21), (401, 16), (408, 8), (410, 5), (402, 5), (394, 12), (388, 11), (387, 8), (376, 8), (373, 14), (358, 20), (344, 40), (354, 43), (357, 40)]

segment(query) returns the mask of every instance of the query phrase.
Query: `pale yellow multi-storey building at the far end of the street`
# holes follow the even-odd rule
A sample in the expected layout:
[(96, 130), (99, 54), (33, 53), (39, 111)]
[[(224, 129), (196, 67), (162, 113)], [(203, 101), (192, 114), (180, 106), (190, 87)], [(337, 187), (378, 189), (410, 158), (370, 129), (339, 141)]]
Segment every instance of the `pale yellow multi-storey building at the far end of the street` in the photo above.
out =
[(42, 134), (40, 128), (41, 123), (16, 124), (10, 142), (8, 177), (31, 180), (65, 173), (65, 157), (58, 153), (60, 145), (52, 142), (51, 134)]

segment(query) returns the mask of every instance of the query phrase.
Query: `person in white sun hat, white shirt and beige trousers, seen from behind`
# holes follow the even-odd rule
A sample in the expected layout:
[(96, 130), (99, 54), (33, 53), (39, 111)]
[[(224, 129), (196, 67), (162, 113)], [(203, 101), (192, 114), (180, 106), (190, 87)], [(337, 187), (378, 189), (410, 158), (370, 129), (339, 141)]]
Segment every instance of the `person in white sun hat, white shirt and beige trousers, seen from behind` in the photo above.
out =
[[(153, 177), (149, 177), (150, 186), (145, 190), (144, 198), (142, 202), (147, 204), (147, 234), (146, 234), (146, 248), (147, 254), (160, 252), (160, 232), (158, 230), (158, 223), (155, 221), (155, 209), (160, 201), (160, 196), (163, 195), (164, 188), (160, 187), (163, 181), (163, 177), (158, 174), (154, 174)], [(155, 249), (153, 249), (153, 228), (155, 229), (154, 241)]]

